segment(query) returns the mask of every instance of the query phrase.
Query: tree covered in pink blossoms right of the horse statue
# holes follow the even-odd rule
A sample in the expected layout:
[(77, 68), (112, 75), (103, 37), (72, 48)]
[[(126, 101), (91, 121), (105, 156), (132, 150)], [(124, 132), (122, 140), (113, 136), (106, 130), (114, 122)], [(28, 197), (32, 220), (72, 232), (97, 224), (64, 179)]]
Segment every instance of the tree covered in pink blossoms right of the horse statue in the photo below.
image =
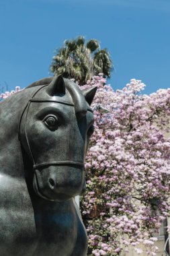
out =
[(141, 244), (156, 255), (153, 232), (170, 209), (170, 89), (147, 96), (131, 79), (114, 92), (100, 75), (84, 88), (90, 86), (98, 90), (81, 198), (88, 255), (120, 255), (130, 246), (140, 254)]

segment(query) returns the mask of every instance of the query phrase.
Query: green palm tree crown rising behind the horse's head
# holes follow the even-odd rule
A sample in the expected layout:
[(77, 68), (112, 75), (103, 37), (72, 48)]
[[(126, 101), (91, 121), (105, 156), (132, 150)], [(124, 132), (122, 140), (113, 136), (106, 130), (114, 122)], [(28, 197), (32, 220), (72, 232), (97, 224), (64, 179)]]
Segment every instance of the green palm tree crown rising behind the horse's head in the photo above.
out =
[(91, 39), (85, 42), (84, 36), (79, 36), (73, 40), (65, 40), (64, 46), (56, 51), (52, 59), (50, 71), (54, 75), (75, 78), (83, 85), (99, 73), (110, 77), (112, 67), (108, 50), (100, 50), (99, 41)]

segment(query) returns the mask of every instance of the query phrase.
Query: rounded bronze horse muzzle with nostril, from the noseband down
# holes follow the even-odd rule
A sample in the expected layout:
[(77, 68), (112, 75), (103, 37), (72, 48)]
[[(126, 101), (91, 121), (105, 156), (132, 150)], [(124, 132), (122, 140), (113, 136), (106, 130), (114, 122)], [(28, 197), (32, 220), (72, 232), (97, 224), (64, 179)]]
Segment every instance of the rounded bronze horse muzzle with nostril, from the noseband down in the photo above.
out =
[(34, 165), (33, 187), (36, 194), (49, 201), (65, 201), (80, 195), (83, 189), (84, 164), (73, 161)]

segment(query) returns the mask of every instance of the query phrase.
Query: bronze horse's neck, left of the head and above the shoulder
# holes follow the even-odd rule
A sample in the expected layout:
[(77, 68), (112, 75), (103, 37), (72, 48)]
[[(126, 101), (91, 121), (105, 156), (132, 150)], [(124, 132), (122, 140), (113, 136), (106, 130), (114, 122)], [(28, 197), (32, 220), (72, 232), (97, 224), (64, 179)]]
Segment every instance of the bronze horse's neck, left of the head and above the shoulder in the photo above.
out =
[(18, 125), (22, 112), (34, 90), (35, 88), (22, 90), (0, 103), (0, 171), (11, 177), (24, 177)]

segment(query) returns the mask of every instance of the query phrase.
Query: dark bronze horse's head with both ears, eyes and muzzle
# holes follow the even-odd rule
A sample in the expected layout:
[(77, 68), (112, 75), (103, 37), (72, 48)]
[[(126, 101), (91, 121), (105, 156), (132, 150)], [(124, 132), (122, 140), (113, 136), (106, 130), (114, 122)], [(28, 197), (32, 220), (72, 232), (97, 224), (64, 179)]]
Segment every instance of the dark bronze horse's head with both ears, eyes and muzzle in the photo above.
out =
[(79, 195), (85, 185), (84, 161), (93, 133), (90, 104), (96, 88), (80, 90), (61, 76), (38, 86), (19, 124), (19, 139), (32, 162), (33, 187), (50, 201)]

